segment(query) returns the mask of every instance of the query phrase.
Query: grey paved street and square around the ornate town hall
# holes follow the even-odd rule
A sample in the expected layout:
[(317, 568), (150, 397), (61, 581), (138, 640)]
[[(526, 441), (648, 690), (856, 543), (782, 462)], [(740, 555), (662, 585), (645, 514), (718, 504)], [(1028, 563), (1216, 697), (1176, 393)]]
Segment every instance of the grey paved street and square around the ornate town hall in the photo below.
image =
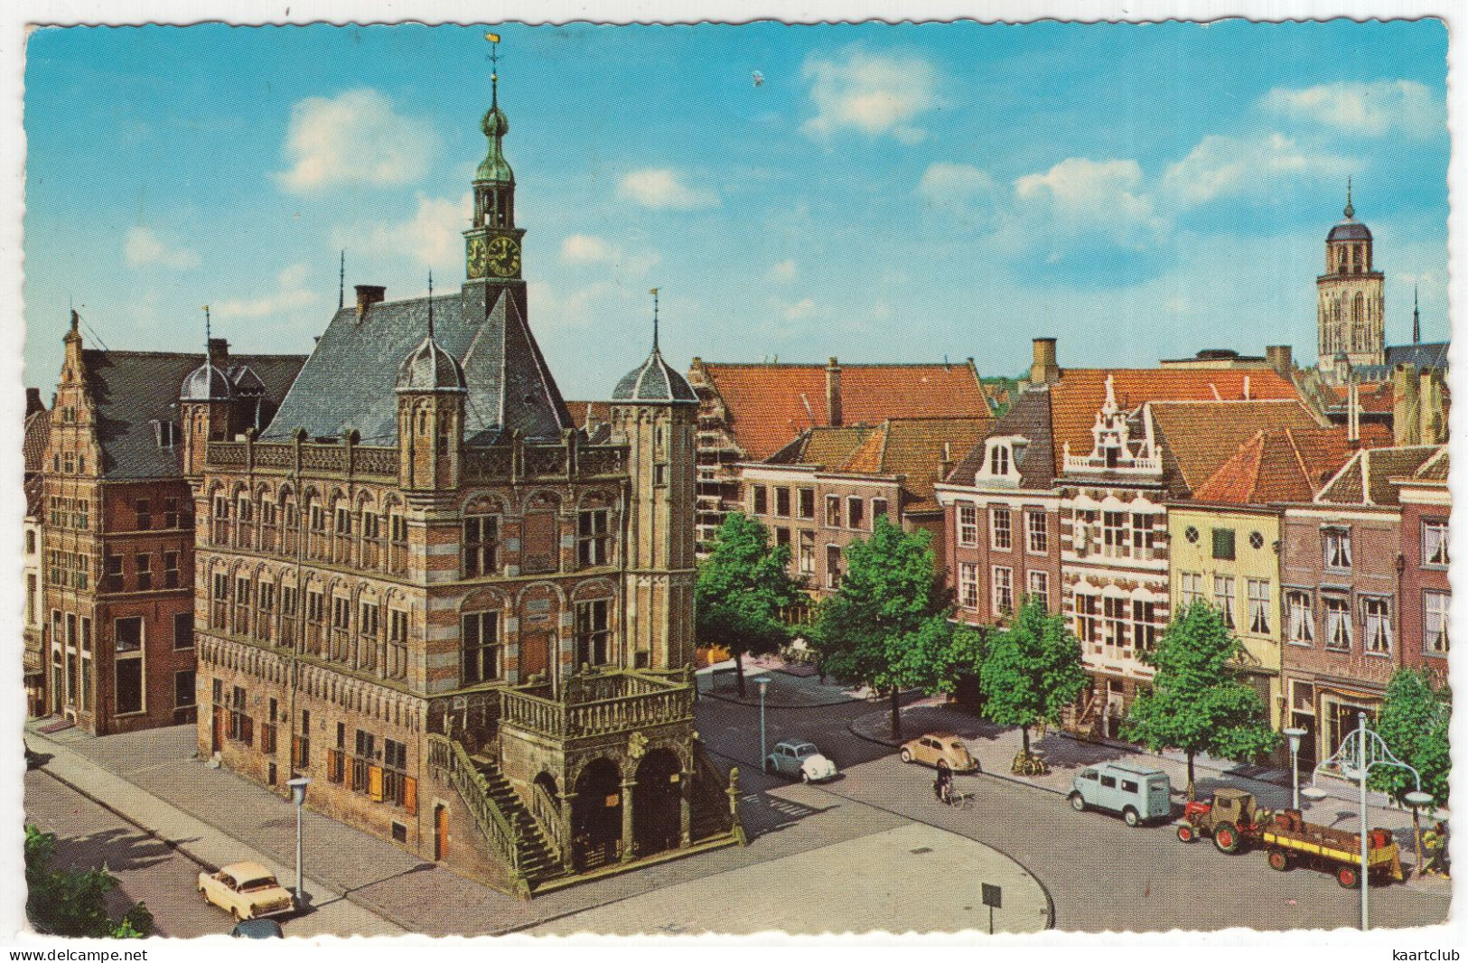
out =
[[(1061, 929), (1356, 925), (1355, 894), (1326, 873), (1277, 873), (1258, 853), (1230, 857), (1207, 843), (1185, 847), (1170, 826), (1129, 829), (1116, 818), (1075, 813), (1045, 788), (992, 775), (960, 777), (960, 788), (976, 793), (976, 807), (940, 806), (932, 799), (931, 771), (904, 766), (890, 746), (853, 734), (853, 724), (868, 719), (869, 725), (885, 703), (799, 706), (802, 693), (813, 702), (826, 702), (829, 693), (803, 688), (788, 677), (780, 680), (780, 691), (782, 708), (768, 709), (769, 743), (810, 738), (843, 775), (824, 785), (800, 785), (762, 774), (757, 708), (700, 699), (699, 730), (708, 747), (721, 765), (740, 766), (741, 813), (750, 835), (746, 848), (672, 860), (523, 903), (307, 813), (308, 890), (324, 900), (314, 916), (289, 928), (302, 934), (382, 932), (401, 925), (429, 935), (755, 932), (772, 925), (803, 932), (948, 929), (986, 926), (986, 916), (975, 922), (976, 910), (964, 909), (978, 906), (982, 881), (1004, 882), (1006, 906), (1031, 907), (1000, 913), (995, 923), (1001, 931), (1042, 926), (1047, 901), (1053, 901)], [(915, 713), (916, 734), (923, 708), (909, 712)], [(979, 749), (1011, 753), (998, 743), (1007, 737), (997, 735), (992, 746)], [(248, 841), (251, 851), (258, 850), (277, 868), (292, 865), (289, 803), (192, 759), (188, 727), (100, 740), (75, 733), (31, 733), (28, 738), (34, 749), (54, 755), (47, 769), (63, 778), (92, 780), (88, 791), (115, 809), (125, 810), (113, 797), (132, 806), (137, 812), (129, 818), (156, 824), (157, 812), (176, 813), (161, 821), (160, 835), (195, 856), (204, 848), (217, 859), (238, 859), (247, 846), (242, 841)], [(79, 804), (82, 797), (46, 772), (29, 774), (26, 791), (32, 818), (53, 821), (62, 835), (76, 840), (78, 851), (113, 847), (109, 853), (116, 857), (107, 859), (116, 859), (112, 865), (119, 871), (126, 868), (128, 898), (148, 900), (161, 932), (228, 928), (198, 906), (191, 860), (150, 843), (106, 809)], [(1327, 803), (1339, 807), (1343, 819), (1352, 818), (1351, 804)], [(1321, 819), (1320, 813), (1315, 818)], [(204, 862), (214, 859), (203, 856)], [(878, 888), (859, 893), (853, 887), (869, 885), (854, 882), (859, 879), (876, 879), (871, 885)], [(756, 895), (731, 901), (731, 887)], [(915, 894), (942, 912), (923, 916)], [(1377, 926), (1427, 925), (1446, 917), (1449, 887), (1414, 881), (1373, 890), (1371, 900)]]

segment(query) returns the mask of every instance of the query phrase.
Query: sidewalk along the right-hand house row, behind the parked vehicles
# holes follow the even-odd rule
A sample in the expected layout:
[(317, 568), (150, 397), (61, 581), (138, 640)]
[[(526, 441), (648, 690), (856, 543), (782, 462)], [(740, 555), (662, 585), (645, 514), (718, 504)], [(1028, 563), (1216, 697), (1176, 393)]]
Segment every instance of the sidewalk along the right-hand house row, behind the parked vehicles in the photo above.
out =
[[(1176, 752), (1161, 755), (1148, 753), (1117, 743), (1086, 741), (1054, 730), (1048, 731), (1044, 738), (1036, 738), (1035, 733), (1031, 731), (1031, 750), (1039, 750), (1045, 755), (1045, 760), (1050, 763), (1050, 775), (1023, 777), (1010, 772), (1010, 763), (1022, 746), (1019, 728), (1006, 728), (960, 712), (945, 705), (941, 697), (922, 699), (903, 706), (901, 721), (903, 740), (891, 738), (891, 713), (887, 709), (873, 708), (872, 712), (851, 719), (849, 728), (859, 738), (893, 747), (923, 733), (953, 733), (969, 744), (969, 752), (979, 760), (979, 766), (985, 775), (1033, 785), (1035, 788), (1060, 796), (1070, 794), (1072, 780), (1085, 766), (1127, 757), (1138, 759), (1145, 765), (1152, 765), (1167, 772), (1173, 784), (1174, 797), (1188, 791), (1188, 762), (1182, 753)], [(1216, 788), (1232, 787), (1254, 793), (1255, 799), (1268, 809), (1284, 809), (1290, 804), (1289, 771), (1240, 766), (1208, 756), (1196, 757), (1193, 771), (1196, 774), (1199, 799), (1211, 796)], [(1301, 785), (1308, 784), (1308, 774), (1301, 774)], [(1318, 802), (1301, 799), (1301, 809), (1305, 818), (1330, 826), (1355, 829), (1361, 796), (1353, 784), (1321, 778), (1317, 781), (1317, 785), (1326, 790), (1329, 796)], [(1415, 863), (1417, 850), (1412, 838), (1411, 810), (1383, 806), (1380, 804), (1383, 800), (1384, 797), (1380, 793), (1368, 796), (1371, 825), (1392, 829), (1398, 844), (1402, 847), (1403, 863)], [(1446, 819), (1446, 810), (1437, 810), (1436, 818)], [(1422, 828), (1425, 829), (1428, 825), (1428, 819), (1424, 815)]]

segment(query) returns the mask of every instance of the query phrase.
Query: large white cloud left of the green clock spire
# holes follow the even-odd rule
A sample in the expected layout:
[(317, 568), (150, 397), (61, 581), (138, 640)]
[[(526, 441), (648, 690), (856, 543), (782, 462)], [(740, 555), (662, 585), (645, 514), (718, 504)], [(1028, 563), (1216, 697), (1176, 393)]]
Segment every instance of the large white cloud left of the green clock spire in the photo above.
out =
[(401, 186), (429, 169), (437, 135), (427, 120), (399, 115), (371, 88), (336, 97), (307, 97), (291, 109), (282, 153), (289, 170), (276, 175), (297, 194), (341, 185)]

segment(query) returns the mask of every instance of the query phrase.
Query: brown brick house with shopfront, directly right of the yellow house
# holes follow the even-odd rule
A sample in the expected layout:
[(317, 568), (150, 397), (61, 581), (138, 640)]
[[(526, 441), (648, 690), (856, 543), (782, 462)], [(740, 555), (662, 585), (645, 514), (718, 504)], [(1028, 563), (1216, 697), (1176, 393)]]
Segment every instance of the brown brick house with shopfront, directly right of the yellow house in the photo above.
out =
[(1374, 718), (1392, 674), (1420, 658), (1402, 637), (1406, 536), (1395, 480), (1440, 451), (1359, 451), (1312, 501), (1284, 508), (1282, 681), (1290, 724), (1311, 734), (1307, 759), (1334, 753), (1358, 711)]

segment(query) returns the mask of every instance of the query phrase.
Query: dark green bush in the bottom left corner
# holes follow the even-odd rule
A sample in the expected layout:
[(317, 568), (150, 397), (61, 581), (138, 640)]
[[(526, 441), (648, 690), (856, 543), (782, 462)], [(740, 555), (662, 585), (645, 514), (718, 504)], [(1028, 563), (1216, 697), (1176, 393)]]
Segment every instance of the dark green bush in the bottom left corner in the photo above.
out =
[(25, 915), (40, 932), (56, 937), (147, 937), (153, 913), (134, 904), (122, 919), (107, 915), (107, 894), (117, 878), (100, 869), (53, 869), (56, 834), (25, 828)]

